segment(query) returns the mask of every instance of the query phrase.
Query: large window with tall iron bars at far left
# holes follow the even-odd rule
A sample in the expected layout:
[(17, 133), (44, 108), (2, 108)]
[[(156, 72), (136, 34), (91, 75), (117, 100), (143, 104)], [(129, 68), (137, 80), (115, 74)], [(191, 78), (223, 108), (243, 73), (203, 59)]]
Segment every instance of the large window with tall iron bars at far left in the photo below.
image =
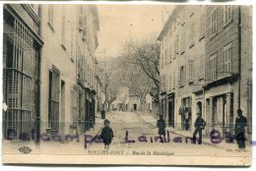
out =
[(12, 140), (20, 140), (22, 134), (32, 133), (37, 52), (33, 47), (32, 32), (18, 20), (13, 21), (13, 27), (5, 52), (8, 105), (5, 131), (8, 137), (12, 134)]

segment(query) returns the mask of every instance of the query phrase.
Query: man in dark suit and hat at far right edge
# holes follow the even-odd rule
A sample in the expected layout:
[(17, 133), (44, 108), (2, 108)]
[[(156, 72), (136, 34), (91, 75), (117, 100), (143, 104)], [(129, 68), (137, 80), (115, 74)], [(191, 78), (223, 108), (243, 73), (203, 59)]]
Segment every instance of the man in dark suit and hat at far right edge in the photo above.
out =
[(247, 126), (247, 119), (242, 115), (242, 110), (237, 110), (237, 117), (235, 118), (234, 133), (235, 139), (239, 148), (245, 148), (245, 127)]

